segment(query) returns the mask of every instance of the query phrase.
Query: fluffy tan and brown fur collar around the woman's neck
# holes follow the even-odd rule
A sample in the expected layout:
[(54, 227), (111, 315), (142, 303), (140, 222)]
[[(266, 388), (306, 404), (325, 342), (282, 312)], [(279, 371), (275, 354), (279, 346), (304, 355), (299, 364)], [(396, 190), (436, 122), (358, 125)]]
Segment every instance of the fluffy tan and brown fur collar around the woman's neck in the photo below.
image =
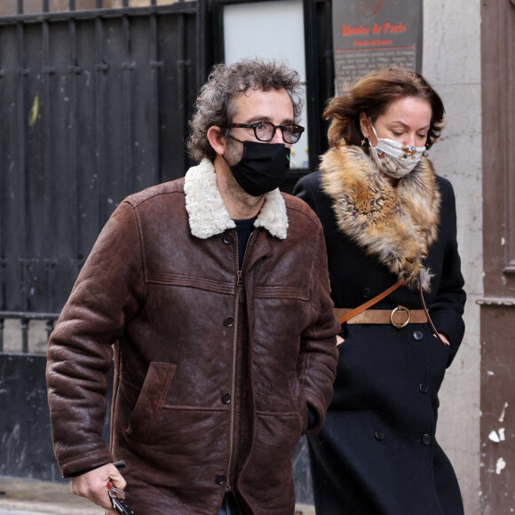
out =
[(393, 187), (363, 149), (342, 146), (322, 156), (321, 181), (339, 229), (410, 288), (421, 272), (429, 290), (423, 261), (438, 238), (441, 203), (432, 163), (423, 157)]

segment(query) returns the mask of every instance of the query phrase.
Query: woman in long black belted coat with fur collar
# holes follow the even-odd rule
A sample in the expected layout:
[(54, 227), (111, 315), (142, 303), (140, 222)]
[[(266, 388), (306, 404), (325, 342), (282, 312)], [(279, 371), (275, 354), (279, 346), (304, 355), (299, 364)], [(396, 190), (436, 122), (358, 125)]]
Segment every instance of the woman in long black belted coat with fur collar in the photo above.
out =
[(459, 515), (435, 439), (438, 392), (464, 336), (450, 182), (426, 150), (440, 96), (416, 72), (365, 75), (329, 101), (329, 151), (295, 193), (321, 219), (342, 322), (335, 393), (308, 435), (321, 515)]

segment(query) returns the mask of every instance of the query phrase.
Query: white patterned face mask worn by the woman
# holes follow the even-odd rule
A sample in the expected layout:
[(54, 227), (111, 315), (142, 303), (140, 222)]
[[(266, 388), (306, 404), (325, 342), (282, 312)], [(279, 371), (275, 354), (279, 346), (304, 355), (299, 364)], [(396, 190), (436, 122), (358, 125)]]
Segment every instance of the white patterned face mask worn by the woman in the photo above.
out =
[[(370, 120), (370, 123), (372, 123), (372, 120)], [(379, 138), (374, 123), (372, 123), (372, 131), (376, 135), (377, 145), (372, 147), (372, 143), (368, 139), (370, 155), (372, 155), (372, 159), (376, 162), (379, 170), (390, 177), (400, 178), (408, 175), (424, 154), (425, 147), (412, 147), (411, 145), (403, 145), (400, 141), (394, 139)]]

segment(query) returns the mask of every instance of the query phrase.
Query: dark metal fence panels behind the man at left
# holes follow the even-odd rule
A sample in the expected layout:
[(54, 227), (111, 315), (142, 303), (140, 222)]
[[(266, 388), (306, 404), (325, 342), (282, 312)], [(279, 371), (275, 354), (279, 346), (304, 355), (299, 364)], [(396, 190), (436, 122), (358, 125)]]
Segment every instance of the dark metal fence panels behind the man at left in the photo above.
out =
[(7, 319), (24, 353), (30, 321), (52, 329), (126, 194), (188, 166), (196, 4), (97, 4), (0, 19), (0, 352)]

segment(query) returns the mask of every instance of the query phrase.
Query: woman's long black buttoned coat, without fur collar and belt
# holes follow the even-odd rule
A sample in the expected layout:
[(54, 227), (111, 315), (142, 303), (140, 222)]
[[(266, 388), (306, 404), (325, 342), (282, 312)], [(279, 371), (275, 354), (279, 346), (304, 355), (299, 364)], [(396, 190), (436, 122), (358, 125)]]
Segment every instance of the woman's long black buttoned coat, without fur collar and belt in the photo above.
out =
[[(441, 345), (428, 324), (343, 325), (334, 398), (321, 432), (308, 437), (320, 515), (463, 513), (455, 472), (435, 439), (438, 392), (464, 336), (465, 302), (455, 196), (447, 179), (437, 176), (436, 185), (440, 226), (424, 260), (433, 274), (424, 298), (451, 346)], [(321, 172), (302, 178), (294, 194), (324, 227), (335, 307), (361, 305), (398, 281), (337, 226)], [(418, 291), (403, 286), (373, 309), (397, 305), (421, 309)]]

